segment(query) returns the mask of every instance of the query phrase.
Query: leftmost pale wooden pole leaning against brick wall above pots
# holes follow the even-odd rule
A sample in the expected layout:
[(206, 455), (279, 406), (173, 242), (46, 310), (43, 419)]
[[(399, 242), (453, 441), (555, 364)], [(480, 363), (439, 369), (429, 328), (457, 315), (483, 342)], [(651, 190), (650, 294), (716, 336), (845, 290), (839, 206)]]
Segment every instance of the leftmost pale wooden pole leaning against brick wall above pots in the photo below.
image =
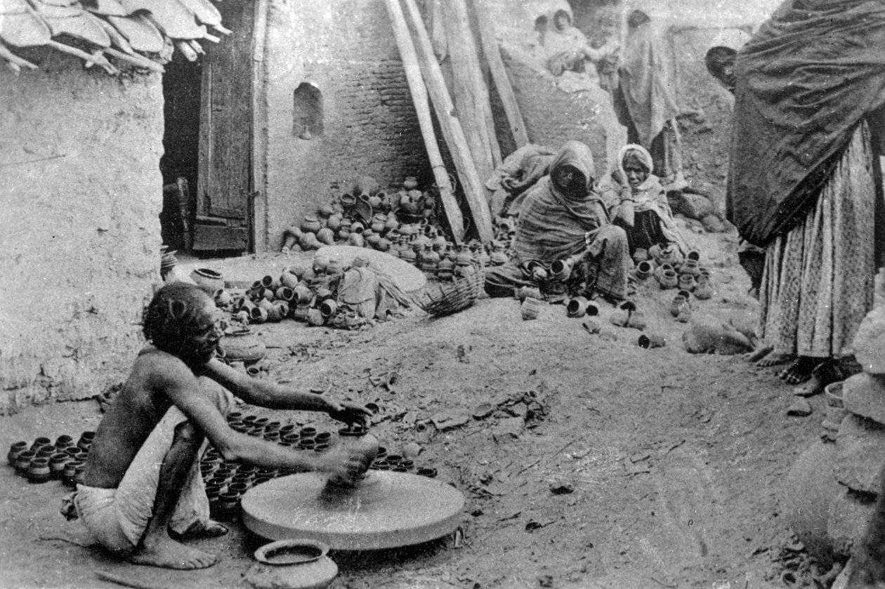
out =
[(409, 26), (405, 22), (405, 16), (402, 7), (399, 5), (399, 0), (387, 0), (386, 4), (390, 22), (393, 25), (394, 36), (396, 37), (396, 45), (399, 47), (399, 54), (403, 59), (405, 79), (409, 83), (412, 102), (415, 105), (415, 111), (418, 113), (418, 124), (421, 128), (421, 135), (424, 137), (424, 145), (427, 148), (427, 158), (430, 160), (430, 166), (433, 168), (436, 186), (440, 191), (440, 200), (443, 201), (443, 210), (445, 210), (446, 218), (449, 220), (452, 240), (455, 243), (460, 243), (464, 241), (464, 216), (461, 214), (461, 209), (452, 190), (449, 172), (446, 170), (445, 164), (443, 164), (443, 155), (440, 153), (439, 145), (436, 144), (434, 123), (430, 117), (430, 100), (427, 96), (424, 80), (421, 78), (418, 53), (415, 51), (414, 43), (412, 43), (412, 35), (409, 34)]

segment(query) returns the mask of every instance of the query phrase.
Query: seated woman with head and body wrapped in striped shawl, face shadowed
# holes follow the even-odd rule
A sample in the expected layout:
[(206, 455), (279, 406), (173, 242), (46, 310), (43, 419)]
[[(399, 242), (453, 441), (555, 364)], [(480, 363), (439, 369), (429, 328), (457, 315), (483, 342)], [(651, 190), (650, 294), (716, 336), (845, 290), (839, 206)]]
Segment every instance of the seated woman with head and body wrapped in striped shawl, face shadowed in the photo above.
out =
[[(489, 296), (513, 296), (520, 287), (539, 287), (551, 298), (566, 292), (627, 298), (627, 235), (613, 226), (595, 190), (589, 147), (567, 142), (522, 204), (514, 256), (486, 273)], [(571, 272), (552, 272), (566, 262)]]

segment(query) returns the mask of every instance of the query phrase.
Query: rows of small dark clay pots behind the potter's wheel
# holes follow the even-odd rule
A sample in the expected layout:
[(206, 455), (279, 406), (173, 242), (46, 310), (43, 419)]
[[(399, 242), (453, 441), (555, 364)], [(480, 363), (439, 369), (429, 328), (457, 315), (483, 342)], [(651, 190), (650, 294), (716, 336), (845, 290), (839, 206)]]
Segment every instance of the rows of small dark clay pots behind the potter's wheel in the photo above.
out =
[[(227, 425), (237, 432), (263, 438), (301, 452), (324, 452), (335, 443), (335, 436), (359, 437), (368, 432), (358, 424), (342, 427), (336, 433), (319, 430), (311, 425), (282, 425), (281, 422), (272, 421), (268, 417), (244, 415), (238, 411), (227, 414)], [(416, 474), (421, 476), (436, 476), (435, 469), (430, 467), (416, 469), (412, 460), (402, 455), (389, 455), (384, 447), (379, 447), (378, 455), (370, 468), (396, 472), (416, 470)], [(200, 460), (200, 473), (203, 475), (206, 496), (209, 498), (210, 515), (227, 521), (239, 515), (242, 495), (250, 488), (295, 472), (296, 470), (263, 469), (251, 464), (226, 461), (212, 446), (207, 448)]]

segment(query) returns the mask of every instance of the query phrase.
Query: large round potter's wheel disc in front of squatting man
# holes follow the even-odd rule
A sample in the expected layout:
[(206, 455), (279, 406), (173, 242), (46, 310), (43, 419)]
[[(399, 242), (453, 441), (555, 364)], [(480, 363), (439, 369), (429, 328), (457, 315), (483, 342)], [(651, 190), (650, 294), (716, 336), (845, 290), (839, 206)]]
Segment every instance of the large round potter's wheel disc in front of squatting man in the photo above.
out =
[(454, 532), (464, 496), (434, 478), (369, 470), (353, 489), (326, 486), (304, 472), (251, 488), (242, 521), (268, 539), (309, 538), (335, 550), (374, 550), (427, 542)]

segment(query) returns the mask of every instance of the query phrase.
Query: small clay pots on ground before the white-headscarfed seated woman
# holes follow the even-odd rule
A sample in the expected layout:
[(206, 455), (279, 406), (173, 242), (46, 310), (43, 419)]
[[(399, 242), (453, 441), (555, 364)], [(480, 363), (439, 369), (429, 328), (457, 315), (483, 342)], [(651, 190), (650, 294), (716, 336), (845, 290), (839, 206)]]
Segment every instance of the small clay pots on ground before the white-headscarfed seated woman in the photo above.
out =
[(635, 278), (641, 283), (654, 278), (662, 289), (678, 288), (702, 301), (715, 294), (711, 272), (701, 265), (701, 253), (696, 249), (682, 256), (680, 249), (673, 244), (666, 247), (655, 245), (647, 250), (636, 249), (633, 260)]

